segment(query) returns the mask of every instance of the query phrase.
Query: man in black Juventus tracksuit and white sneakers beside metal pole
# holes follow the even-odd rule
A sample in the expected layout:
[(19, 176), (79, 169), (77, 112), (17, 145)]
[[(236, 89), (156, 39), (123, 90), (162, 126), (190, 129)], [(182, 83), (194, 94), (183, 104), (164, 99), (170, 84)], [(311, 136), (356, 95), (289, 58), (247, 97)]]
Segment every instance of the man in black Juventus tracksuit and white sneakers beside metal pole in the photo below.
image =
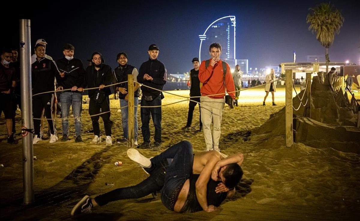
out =
[[(42, 110), (45, 109), (45, 115), (48, 119), (50, 128), (50, 141), (49, 143), (55, 143), (58, 141), (56, 135), (55, 122), (53, 118), (54, 108), (54, 81), (55, 77), (60, 77), (59, 70), (56, 63), (53, 60), (45, 58), (45, 46), (37, 44), (35, 46), (36, 61), (31, 64), (31, 81), (32, 81), (32, 113), (34, 120), (35, 137), (33, 138), (33, 144), (37, 144), (41, 141), (40, 126)], [(44, 93), (48, 92), (48, 93)], [(43, 93), (43, 94), (39, 94)]]

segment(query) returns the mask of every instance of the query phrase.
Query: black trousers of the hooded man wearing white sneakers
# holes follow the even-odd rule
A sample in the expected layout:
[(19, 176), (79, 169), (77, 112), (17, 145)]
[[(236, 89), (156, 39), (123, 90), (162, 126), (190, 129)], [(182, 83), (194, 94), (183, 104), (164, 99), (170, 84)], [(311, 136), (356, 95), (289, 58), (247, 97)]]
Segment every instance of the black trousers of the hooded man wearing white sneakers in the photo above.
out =
[[(101, 112), (100, 112), (100, 109), (101, 109)], [(95, 115), (95, 114), (104, 113), (104, 112), (108, 112), (108, 111), (110, 111), (109, 96), (105, 96), (104, 102), (101, 104), (96, 103), (93, 98), (90, 98), (90, 103), (89, 103), (89, 114), (90, 115)], [(104, 121), (106, 136), (111, 136), (110, 112), (91, 117), (91, 121), (93, 123), (94, 135), (100, 136), (100, 126), (99, 126), (100, 116), (103, 118), (103, 121)]]

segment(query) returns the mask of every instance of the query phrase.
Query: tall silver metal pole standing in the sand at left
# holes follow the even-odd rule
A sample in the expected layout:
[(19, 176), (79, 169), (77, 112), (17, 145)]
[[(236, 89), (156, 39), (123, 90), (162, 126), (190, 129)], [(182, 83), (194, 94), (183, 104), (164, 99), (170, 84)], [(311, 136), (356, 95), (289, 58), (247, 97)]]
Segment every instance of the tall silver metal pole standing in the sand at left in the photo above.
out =
[[(21, 124), (23, 128), (32, 127), (31, 96), (31, 41), (30, 20), (20, 20), (20, 71), (21, 71)], [(29, 96), (30, 94), (30, 96)], [(34, 202), (34, 168), (32, 133), (23, 132), (23, 188), (24, 204)]]

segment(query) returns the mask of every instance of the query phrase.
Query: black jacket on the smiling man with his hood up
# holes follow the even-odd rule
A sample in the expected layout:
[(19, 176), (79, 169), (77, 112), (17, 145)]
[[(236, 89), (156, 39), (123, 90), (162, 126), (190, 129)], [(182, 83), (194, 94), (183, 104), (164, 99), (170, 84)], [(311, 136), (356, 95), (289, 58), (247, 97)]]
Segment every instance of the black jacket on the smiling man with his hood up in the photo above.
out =
[[(85, 78), (84, 82), (82, 83), (81, 87), (85, 88), (86, 86), (88, 88), (91, 87), (99, 87), (100, 85), (110, 85), (111, 84), (111, 67), (107, 64), (101, 64), (101, 67), (99, 71), (95, 69), (95, 66), (89, 66), (85, 70)], [(89, 98), (92, 98), (95, 91), (99, 89), (91, 89), (89, 90)], [(110, 95), (111, 90), (110, 87), (105, 87), (104, 89), (101, 89), (105, 94)]]

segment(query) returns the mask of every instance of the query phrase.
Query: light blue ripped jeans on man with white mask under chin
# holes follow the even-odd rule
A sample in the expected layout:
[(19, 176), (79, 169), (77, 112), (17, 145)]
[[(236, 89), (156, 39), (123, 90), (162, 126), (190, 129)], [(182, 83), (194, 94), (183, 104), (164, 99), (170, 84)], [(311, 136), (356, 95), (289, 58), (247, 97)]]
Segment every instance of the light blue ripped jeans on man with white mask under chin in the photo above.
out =
[(63, 135), (69, 134), (69, 112), (70, 105), (75, 120), (75, 134), (81, 135), (81, 110), (82, 110), (82, 94), (64, 91), (60, 94), (61, 100), (61, 123), (63, 127)]

